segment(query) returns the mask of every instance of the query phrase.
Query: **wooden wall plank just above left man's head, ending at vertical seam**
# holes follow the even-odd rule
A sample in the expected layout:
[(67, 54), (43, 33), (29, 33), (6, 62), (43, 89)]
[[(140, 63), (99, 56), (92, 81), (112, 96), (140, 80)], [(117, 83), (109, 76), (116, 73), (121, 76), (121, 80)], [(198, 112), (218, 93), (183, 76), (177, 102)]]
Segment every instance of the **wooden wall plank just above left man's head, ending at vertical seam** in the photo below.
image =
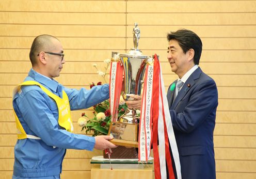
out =
[[(56, 29), (58, 29), (56, 31)], [(24, 25), (3, 24), (0, 26), (2, 35), (8, 36), (34, 36), (51, 34), (55, 37), (125, 37), (125, 26), (113, 25)], [(24, 33), (25, 32), (25, 33)]]

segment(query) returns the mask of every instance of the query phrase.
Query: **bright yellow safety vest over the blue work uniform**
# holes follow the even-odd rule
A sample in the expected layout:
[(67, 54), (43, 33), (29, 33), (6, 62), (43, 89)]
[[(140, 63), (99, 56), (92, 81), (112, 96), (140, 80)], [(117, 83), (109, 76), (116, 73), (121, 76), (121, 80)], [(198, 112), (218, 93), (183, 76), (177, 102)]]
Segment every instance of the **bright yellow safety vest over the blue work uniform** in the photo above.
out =
[[(62, 99), (61, 99), (59, 96), (50, 92), (47, 88), (42, 86), (40, 83), (36, 81), (25, 81), (14, 88), (13, 94), (19, 92), (22, 85), (38, 85), (39, 87), (41, 87), (44, 93), (46, 93), (49, 97), (51, 97), (57, 104), (58, 111), (59, 111), (59, 119), (58, 119), (59, 126), (61, 126), (62, 128), (65, 128), (69, 132), (73, 132), (74, 127), (73, 127), (71, 115), (70, 115), (69, 98), (65, 91), (62, 91)], [(15, 115), (16, 126), (18, 129), (18, 139), (25, 139), (25, 138), (40, 139), (39, 137), (26, 134), (15, 111), (14, 111), (14, 115)]]

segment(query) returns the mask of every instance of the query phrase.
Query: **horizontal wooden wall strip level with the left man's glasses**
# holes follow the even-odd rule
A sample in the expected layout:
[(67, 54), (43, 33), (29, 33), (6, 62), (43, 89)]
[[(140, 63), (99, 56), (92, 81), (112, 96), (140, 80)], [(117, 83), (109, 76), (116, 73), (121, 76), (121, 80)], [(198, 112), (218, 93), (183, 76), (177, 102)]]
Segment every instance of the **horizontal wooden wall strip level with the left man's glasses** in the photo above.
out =
[[(167, 41), (164, 40), (166, 47), (162, 50), (146, 50), (143, 49), (142, 52), (145, 55), (151, 56), (154, 53), (160, 56), (159, 60), (161, 62), (167, 62)], [(1, 61), (29, 61), (29, 48), (24, 49), (0, 49), (0, 60)], [(132, 48), (132, 47), (130, 47)], [(129, 49), (129, 47), (128, 47)], [(123, 49), (66, 49), (65, 55), (67, 61), (97, 61), (102, 62), (105, 59), (111, 57), (111, 51), (117, 51), (120, 53), (125, 52)], [(203, 50), (200, 59), (200, 64), (202, 62), (256, 62), (256, 49), (255, 50), (216, 50), (209, 49)], [(241, 60), (243, 59), (243, 60)]]

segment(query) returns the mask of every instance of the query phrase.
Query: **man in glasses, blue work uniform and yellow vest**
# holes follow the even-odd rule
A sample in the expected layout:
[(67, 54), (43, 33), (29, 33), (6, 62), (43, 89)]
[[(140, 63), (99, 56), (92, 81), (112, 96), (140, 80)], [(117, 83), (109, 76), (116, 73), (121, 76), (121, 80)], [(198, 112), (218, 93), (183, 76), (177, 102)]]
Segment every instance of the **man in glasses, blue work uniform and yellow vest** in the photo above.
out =
[(12, 178), (60, 178), (66, 149), (115, 148), (110, 136), (74, 134), (70, 110), (86, 109), (109, 98), (108, 84), (69, 89), (53, 78), (65, 63), (60, 41), (39, 35), (31, 45), (32, 63), (24, 82), (14, 89), (18, 129)]

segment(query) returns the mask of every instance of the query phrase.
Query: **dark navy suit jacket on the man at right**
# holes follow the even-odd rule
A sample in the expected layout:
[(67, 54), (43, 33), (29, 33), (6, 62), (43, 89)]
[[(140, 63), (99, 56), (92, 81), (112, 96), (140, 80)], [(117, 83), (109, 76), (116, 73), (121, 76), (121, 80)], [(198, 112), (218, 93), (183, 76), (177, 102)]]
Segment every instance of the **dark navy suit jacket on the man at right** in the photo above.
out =
[(182, 179), (216, 178), (213, 131), (218, 92), (214, 80), (198, 67), (174, 101), (175, 89), (170, 89), (167, 99), (180, 155)]

